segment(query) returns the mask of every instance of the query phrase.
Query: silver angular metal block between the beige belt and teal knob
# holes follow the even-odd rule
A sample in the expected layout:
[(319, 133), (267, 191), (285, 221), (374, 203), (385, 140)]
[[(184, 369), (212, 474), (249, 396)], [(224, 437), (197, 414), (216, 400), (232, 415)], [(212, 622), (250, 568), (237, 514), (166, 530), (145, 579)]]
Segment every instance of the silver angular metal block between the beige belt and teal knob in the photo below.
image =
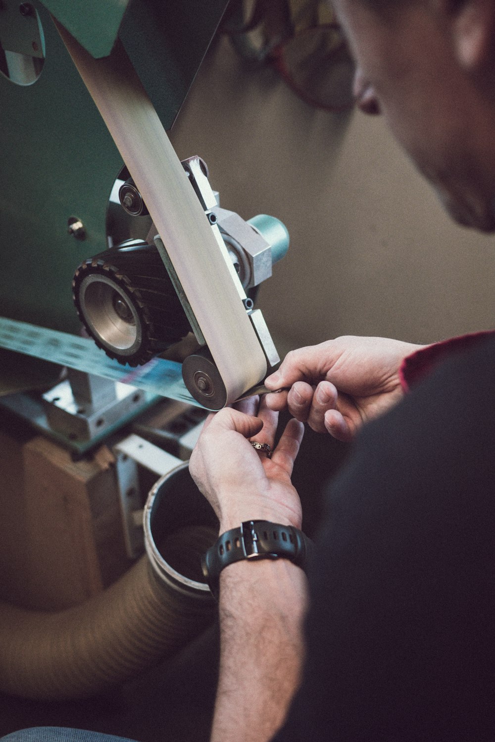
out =
[(272, 275), (272, 249), (262, 235), (235, 211), (217, 206), (217, 227), (229, 251), (237, 257), (239, 278), (244, 289), (259, 286)]

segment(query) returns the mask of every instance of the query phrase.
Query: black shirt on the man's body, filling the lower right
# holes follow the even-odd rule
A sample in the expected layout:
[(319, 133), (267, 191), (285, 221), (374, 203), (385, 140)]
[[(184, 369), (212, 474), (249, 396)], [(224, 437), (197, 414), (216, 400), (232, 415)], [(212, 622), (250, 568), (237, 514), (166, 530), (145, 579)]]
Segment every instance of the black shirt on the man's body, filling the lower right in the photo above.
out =
[(277, 742), (495, 740), (495, 341), (368, 424), (328, 490)]

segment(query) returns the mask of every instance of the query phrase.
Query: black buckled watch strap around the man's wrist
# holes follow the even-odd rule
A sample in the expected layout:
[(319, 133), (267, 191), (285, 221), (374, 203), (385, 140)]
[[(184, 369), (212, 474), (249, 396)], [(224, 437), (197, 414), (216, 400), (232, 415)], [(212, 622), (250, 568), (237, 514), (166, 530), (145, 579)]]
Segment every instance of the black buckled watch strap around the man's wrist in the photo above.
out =
[(201, 565), (209, 588), (218, 596), (220, 572), (241, 559), (290, 559), (304, 568), (312, 542), (292, 525), (268, 520), (246, 520), (240, 528), (222, 533), (206, 551)]

